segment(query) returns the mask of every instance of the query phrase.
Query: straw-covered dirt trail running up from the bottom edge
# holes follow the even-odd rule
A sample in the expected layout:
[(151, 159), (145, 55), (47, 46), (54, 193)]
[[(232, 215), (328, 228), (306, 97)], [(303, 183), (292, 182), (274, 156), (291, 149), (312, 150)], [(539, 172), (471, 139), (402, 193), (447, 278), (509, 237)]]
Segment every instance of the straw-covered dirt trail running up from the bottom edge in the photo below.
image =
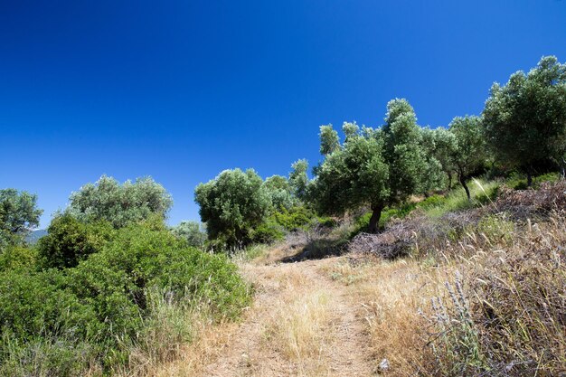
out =
[[(339, 258), (242, 266), (256, 287), (240, 325), (219, 329), (203, 376), (371, 376), (362, 307), (330, 278)], [(199, 346), (198, 344), (196, 346)], [(180, 373), (183, 375), (184, 373)], [(172, 373), (170, 375), (177, 375)]]

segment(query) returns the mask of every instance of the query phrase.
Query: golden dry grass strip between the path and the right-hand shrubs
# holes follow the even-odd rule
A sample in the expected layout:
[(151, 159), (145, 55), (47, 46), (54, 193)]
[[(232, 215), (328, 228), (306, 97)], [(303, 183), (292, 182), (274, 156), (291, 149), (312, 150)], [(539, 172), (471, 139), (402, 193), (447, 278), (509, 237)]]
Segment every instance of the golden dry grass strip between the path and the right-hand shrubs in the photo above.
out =
[(441, 287), (438, 273), (415, 260), (344, 259), (328, 273), (350, 288), (363, 308), (373, 358), (387, 360), (387, 375), (408, 376), (429, 363), (425, 312)]

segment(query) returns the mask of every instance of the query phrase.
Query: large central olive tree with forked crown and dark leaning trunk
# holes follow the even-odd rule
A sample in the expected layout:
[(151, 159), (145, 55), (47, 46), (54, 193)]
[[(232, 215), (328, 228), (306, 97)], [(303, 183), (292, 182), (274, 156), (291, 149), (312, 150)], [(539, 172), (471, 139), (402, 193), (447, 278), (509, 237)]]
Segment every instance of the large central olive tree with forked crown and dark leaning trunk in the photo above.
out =
[[(391, 100), (387, 108), (381, 129), (344, 123), (344, 145), (325, 155), (312, 184), (321, 212), (342, 214), (369, 205), (371, 232), (378, 230), (386, 205), (401, 203), (429, 185), (430, 165), (414, 110), (405, 99)], [(321, 132), (321, 145), (326, 144), (324, 135), (334, 133)]]

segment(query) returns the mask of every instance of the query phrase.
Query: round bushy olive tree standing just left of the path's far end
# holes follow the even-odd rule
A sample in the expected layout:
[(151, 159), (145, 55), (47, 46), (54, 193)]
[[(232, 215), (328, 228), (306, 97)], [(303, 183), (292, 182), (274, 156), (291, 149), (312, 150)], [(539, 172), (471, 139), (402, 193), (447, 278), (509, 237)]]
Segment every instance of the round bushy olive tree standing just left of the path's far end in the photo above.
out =
[(269, 192), (253, 169), (224, 170), (194, 190), (211, 240), (222, 239), (226, 246), (248, 243), (252, 230), (265, 221), (271, 208)]

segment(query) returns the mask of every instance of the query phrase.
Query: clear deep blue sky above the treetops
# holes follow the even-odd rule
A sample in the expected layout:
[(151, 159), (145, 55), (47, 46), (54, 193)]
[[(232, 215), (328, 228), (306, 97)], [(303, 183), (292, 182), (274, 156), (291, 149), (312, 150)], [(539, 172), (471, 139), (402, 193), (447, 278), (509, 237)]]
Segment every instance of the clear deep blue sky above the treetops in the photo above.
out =
[(566, 1), (0, 1), (0, 188), (45, 210), (152, 175), (170, 223), (223, 169), (318, 159), (318, 127), (479, 114), (494, 81), (566, 61)]

